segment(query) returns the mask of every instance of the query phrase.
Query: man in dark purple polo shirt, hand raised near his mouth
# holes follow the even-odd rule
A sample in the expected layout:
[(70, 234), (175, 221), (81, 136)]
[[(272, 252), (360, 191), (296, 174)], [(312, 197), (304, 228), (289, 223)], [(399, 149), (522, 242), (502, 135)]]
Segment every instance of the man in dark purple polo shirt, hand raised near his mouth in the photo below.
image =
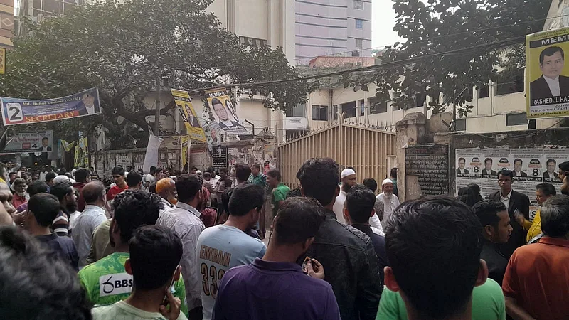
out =
[(285, 200), (265, 256), (223, 276), (213, 319), (340, 319), (334, 292), (322, 280), (320, 263), (308, 260), (306, 272), (295, 263), (307, 252), (324, 218), (312, 199)]

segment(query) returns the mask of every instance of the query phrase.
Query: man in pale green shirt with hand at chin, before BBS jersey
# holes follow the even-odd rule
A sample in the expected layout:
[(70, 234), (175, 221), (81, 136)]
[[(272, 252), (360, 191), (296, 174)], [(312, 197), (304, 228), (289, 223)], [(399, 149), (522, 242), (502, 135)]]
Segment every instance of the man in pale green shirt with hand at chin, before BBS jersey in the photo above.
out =
[(180, 312), (181, 300), (171, 292), (172, 284), (181, 277), (182, 242), (178, 235), (165, 227), (144, 225), (134, 232), (129, 250), (124, 270), (132, 275), (132, 294), (124, 301), (96, 306), (91, 310), (93, 319), (186, 320)]

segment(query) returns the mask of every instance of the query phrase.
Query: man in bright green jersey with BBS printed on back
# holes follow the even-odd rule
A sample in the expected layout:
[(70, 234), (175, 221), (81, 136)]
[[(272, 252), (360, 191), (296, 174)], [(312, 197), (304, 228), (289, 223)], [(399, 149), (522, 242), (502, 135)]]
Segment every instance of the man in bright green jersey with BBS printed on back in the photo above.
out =
[[(124, 270), (129, 259), (129, 240), (134, 230), (141, 225), (154, 225), (162, 206), (161, 199), (154, 193), (139, 190), (125, 190), (112, 203), (115, 215), (110, 225), (112, 255), (87, 265), (79, 272), (81, 285), (92, 304), (112, 304), (127, 299), (132, 291), (132, 275)], [(174, 283), (174, 297), (181, 299), (181, 310), (187, 315), (186, 290), (181, 277)]]

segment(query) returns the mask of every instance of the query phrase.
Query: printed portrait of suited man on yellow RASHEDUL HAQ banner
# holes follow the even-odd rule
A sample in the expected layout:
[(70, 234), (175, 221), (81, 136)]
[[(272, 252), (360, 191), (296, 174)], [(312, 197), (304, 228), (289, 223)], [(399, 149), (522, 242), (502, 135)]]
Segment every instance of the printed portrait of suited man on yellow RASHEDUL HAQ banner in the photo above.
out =
[[(539, 55), (540, 78), (530, 83), (530, 97), (537, 99), (569, 95), (569, 77), (561, 75), (565, 64), (565, 53), (558, 46), (543, 49)], [(555, 102), (551, 102), (555, 103)]]

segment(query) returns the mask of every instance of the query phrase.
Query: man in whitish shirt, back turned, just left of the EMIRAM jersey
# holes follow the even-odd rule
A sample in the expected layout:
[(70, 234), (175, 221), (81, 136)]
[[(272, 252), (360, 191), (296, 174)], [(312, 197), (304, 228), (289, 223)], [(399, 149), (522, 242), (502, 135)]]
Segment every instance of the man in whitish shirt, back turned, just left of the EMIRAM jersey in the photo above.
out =
[(198, 237), (206, 228), (200, 220), (199, 208), (203, 202), (202, 182), (193, 174), (183, 174), (177, 178), (176, 191), (178, 203), (174, 208), (162, 213), (156, 225), (162, 225), (179, 235), (184, 246), (184, 254), (180, 261), (184, 286), (186, 287), (186, 303), (188, 319), (201, 319), (202, 275), (196, 272), (196, 248)]

